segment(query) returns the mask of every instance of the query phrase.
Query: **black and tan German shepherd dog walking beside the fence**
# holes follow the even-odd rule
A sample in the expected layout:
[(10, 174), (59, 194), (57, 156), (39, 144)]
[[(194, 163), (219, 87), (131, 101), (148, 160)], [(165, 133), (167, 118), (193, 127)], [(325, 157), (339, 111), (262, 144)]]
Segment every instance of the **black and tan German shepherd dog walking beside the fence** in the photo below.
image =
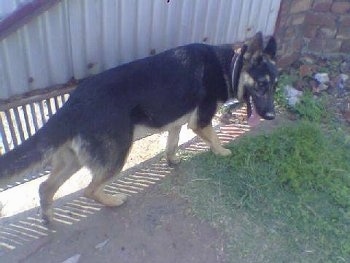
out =
[(133, 141), (145, 135), (168, 131), (169, 164), (179, 162), (175, 152), (186, 123), (215, 154), (230, 155), (212, 118), (233, 97), (246, 103), (249, 120), (275, 117), (275, 54), (275, 39), (264, 48), (259, 32), (238, 51), (232, 45), (190, 44), (90, 77), (34, 136), (0, 156), (0, 182), (51, 162), (39, 189), (48, 223), (54, 194), (82, 166), (92, 173), (86, 197), (106, 206), (123, 204), (124, 194), (103, 189), (121, 171)]

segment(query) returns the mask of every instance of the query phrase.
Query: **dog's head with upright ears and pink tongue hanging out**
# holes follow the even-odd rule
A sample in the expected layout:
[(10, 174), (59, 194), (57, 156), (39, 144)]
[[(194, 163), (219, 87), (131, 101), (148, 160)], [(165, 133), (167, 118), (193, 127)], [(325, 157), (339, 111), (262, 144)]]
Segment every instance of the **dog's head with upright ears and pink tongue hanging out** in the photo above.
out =
[(275, 118), (274, 93), (278, 75), (275, 64), (277, 44), (271, 37), (264, 48), (259, 32), (241, 49), (241, 70), (237, 80), (237, 98), (247, 104), (247, 118), (255, 125), (260, 118)]

